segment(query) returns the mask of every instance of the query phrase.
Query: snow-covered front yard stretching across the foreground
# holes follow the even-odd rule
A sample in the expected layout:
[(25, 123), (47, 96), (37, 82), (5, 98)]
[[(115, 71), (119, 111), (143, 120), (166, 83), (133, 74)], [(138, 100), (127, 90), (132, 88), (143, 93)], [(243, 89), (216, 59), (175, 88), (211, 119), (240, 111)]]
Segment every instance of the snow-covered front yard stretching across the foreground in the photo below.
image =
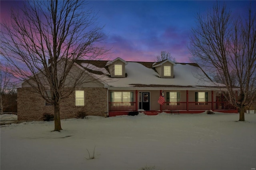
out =
[[(1, 127), (1, 170), (252, 170), (256, 114), (93, 117)], [(93, 155), (95, 158), (87, 160)]]

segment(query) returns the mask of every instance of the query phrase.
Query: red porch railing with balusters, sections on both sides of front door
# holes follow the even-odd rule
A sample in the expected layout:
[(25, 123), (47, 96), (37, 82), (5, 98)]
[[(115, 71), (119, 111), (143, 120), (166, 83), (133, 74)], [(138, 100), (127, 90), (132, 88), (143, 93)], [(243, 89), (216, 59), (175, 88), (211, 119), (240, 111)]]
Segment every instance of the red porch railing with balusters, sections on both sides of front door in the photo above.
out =
[[(109, 102), (109, 111), (137, 111), (136, 102)], [(236, 107), (228, 102), (165, 102), (162, 111), (179, 110), (235, 110)]]

